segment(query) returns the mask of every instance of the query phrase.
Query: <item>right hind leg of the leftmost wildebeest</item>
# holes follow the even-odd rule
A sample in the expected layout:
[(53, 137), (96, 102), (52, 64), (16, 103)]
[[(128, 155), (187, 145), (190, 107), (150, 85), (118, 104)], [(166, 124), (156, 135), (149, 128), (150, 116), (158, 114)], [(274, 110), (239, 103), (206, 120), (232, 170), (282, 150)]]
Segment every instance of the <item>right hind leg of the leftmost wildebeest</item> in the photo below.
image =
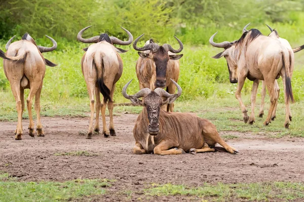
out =
[(34, 137), (34, 122), (33, 122), (33, 115), (32, 115), (32, 102), (35, 94), (37, 93), (38, 89), (41, 87), (41, 82), (37, 81), (30, 81), (30, 89), (29, 94), (26, 99), (27, 103), (27, 111), (28, 111), (28, 117), (29, 117), (29, 125), (28, 125), (28, 135), (31, 137)]

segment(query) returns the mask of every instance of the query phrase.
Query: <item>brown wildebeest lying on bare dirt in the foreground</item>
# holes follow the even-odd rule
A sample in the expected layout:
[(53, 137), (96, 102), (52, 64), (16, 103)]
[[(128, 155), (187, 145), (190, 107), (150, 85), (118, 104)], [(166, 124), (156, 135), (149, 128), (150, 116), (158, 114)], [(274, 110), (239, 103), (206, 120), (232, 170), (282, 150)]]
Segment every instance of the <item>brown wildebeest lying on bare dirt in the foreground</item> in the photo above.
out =
[(215, 126), (208, 120), (188, 113), (171, 113), (161, 109), (162, 105), (173, 103), (181, 94), (181, 87), (174, 80), (171, 79), (171, 82), (176, 85), (177, 94), (170, 94), (162, 88), (154, 91), (143, 88), (134, 95), (128, 95), (126, 90), (131, 81), (124, 86), (122, 93), (135, 105), (143, 106), (133, 129), (135, 154), (154, 152), (157, 155), (174, 155), (184, 151), (196, 154), (215, 151), (210, 147), (216, 143), (232, 154), (238, 153), (237, 149), (220, 138)]

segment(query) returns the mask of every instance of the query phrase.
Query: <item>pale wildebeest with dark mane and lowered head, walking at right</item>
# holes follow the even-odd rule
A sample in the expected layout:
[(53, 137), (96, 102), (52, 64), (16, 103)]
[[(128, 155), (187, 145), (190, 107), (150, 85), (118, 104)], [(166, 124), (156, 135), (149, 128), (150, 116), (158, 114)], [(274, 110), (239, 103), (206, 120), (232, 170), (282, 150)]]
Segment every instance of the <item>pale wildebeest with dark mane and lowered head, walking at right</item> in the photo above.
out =
[(236, 98), (239, 100), (244, 122), (253, 123), (255, 96), (251, 96), (251, 116), (247, 116), (247, 110), (242, 102), (241, 90), (245, 79), (253, 81), (252, 94), (256, 94), (259, 80), (264, 80), (268, 88), (271, 106), (264, 125), (271, 123), (271, 116), (278, 99), (278, 91), (275, 90), (275, 80), (282, 76), (285, 94), (285, 128), (289, 127), (289, 99), (293, 102), (293, 95), (290, 80), (291, 54), (290, 50), (283, 46), (280, 41), (268, 36), (263, 36), (257, 29), (251, 29), (243, 33), (241, 38), (234, 42), (224, 41), (213, 42), (213, 34), (209, 42), (215, 47), (222, 47), (225, 50), (213, 58), (225, 57), (230, 74), (230, 82), (237, 83)]

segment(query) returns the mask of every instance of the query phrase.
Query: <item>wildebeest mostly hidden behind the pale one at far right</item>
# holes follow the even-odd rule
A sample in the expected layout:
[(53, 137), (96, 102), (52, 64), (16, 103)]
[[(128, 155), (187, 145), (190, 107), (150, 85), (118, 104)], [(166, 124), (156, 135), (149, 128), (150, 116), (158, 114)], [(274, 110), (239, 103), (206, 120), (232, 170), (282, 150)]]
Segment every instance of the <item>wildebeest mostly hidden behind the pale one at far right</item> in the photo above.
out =
[[(281, 38), (277, 32), (277, 30), (275, 29), (272, 29), (269, 25), (267, 25), (268, 28), (270, 29), (271, 33), (268, 35), (269, 37), (271, 38), (274, 38), (274, 39), (278, 39), (285, 47), (287, 47), (288, 49), (292, 50), (293, 53), (297, 53), (299, 51), (301, 51), (302, 49), (304, 49), (304, 45), (301, 45), (299, 47), (296, 47), (296, 48), (292, 48), (289, 44), (289, 42), (284, 39), (284, 38)], [(246, 27), (247, 25), (244, 27), (245, 31), (246, 31)], [(291, 55), (292, 55), (292, 52)], [(291, 64), (294, 64), (294, 57), (291, 57), (292, 62)], [(291, 65), (291, 69), (290, 69), (290, 78), (292, 77), (292, 72), (293, 72), (293, 65)], [(277, 86), (277, 88), (279, 88), (279, 85), (277, 83), (277, 81), (275, 81), (275, 86)], [(280, 89), (279, 89), (280, 90)], [(262, 81), (262, 91), (261, 91), (261, 107), (260, 107), (260, 111), (259, 111), (259, 117), (262, 117), (263, 114), (264, 114), (264, 99), (265, 99), (265, 95), (266, 95), (266, 85), (265, 85), (265, 82)], [(278, 98), (279, 98), (279, 94), (278, 94)], [(274, 120), (276, 118), (276, 109), (277, 109), (277, 104), (275, 106), (275, 109), (274, 109), (274, 112), (273, 112), (273, 115), (272, 115), (272, 120)], [(291, 121), (291, 112), (289, 110), (289, 119)]]

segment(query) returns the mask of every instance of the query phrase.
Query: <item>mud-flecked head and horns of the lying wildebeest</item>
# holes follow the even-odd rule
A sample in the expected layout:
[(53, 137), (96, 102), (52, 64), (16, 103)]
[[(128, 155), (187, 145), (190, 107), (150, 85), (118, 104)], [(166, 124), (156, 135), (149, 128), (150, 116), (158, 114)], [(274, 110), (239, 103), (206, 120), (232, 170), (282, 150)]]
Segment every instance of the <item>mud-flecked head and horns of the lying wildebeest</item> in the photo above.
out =
[[(159, 117), (161, 106), (173, 103), (174, 100), (181, 95), (181, 87), (171, 79), (177, 87), (176, 94), (170, 94), (162, 88), (156, 88), (154, 91), (149, 88), (143, 88), (134, 95), (128, 95), (126, 90), (131, 81), (124, 86), (122, 93), (124, 97), (130, 99), (132, 103), (135, 105), (141, 105), (146, 109), (147, 119), (149, 121), (148, 133), (150, 135), (157, 135), (160, 130)], [(143, 97), (144, 99), (141, 100), (139, 99), (140, 97)]]

